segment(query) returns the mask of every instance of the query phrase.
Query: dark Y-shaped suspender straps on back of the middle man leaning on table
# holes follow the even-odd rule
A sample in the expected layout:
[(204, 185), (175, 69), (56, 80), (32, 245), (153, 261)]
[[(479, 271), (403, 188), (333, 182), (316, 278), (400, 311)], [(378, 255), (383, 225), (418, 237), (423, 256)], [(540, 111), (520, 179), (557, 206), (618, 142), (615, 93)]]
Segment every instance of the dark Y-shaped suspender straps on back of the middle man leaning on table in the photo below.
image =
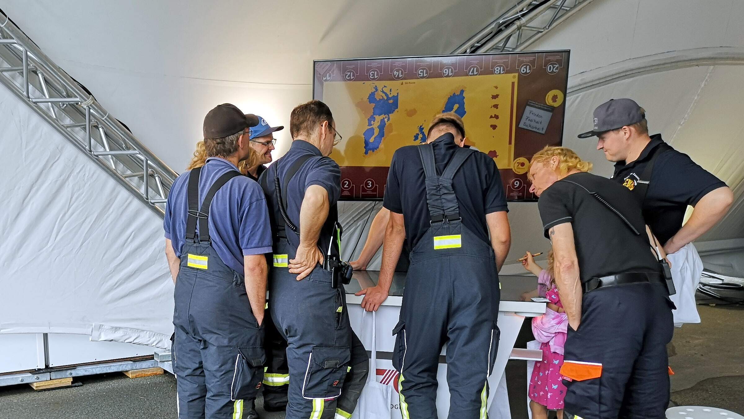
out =
[(432, 217), (430, 223), (460, 220), (460, 208), (455, 190), (452, 188), (452, 178), (455, 177), (455, 173), (462, 167), (465, 160), (475, 153), (475, 150), (458, 148), (443, 173), (437, 175), (432, 144), (422, 144), (417, 149), (426, 180), (426, 205), (429, 206), (429, 214)]

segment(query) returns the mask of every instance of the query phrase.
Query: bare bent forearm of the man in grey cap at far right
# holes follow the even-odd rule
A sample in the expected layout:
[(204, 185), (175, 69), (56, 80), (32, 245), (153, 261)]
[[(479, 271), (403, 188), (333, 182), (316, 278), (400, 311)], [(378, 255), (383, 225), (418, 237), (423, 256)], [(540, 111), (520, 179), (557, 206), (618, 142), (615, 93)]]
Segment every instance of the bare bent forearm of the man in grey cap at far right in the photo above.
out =
[(674, 253), (687, 243), (697, 240), (721, 220), (728, 212), (728, 208), (731, 208), (732, 202), (734, 202), (734, 194), (726, 186), (706, 193), (695, 205), (693, 213), (690, 214), (690, 220), (687, 220), (687, 223), (684, 223), (684, 226), (667, 243), (664, 243), (664, 249), (667, 249), (668, 253)]

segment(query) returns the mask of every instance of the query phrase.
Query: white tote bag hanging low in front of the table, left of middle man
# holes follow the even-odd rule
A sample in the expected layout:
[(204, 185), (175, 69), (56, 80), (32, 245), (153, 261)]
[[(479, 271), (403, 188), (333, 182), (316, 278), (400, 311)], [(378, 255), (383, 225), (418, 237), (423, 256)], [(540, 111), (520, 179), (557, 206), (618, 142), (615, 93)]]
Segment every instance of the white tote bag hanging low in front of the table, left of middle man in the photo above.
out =
[[(362, 314), (362, 336), (365, 335), (365, 319), (367, 312)], [(370, 345), (372, 357), (370, 359), (370, 373), (367, 378), (367, 384), (362, 389), (362, 395), (359, 397), (359, 403), (354, 409), (352, 419), (390, 419), (390, 400), (392, 397), (391, 386), (377, 383), (377, 336), (376, 336), (376, 319), (375, 312), (372, 312), (372, 344)], [(363, 339), (363, 338), (362, 338)]]

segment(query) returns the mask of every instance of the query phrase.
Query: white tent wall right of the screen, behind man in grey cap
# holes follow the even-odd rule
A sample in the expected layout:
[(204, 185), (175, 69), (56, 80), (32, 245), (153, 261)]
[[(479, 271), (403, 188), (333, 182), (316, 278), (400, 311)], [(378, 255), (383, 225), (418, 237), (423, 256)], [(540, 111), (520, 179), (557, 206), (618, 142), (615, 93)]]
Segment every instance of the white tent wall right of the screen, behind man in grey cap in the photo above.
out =
[[(744, 2), (737, 0), (594, 1), (530, 49), (571, 48), (569, 90), (623, 62), (652, 61), (675, 51), (679, 60), (701, 48), (744, 51)], [(725, 48), (723, 48), (725, 49)], [(727, 64), (727, 65), (723, 65)], [(744, 66), (721, 63), (632, 77), (567, 98), (564, 145), (594, 163), (594, 172), (612, 174), (612, 164), (594, 150), (595, 141), (576, 138), (591, 127), (595, 106), (612, 97), (632, 97), (644, 106), (652, 133), (690, 155), (726, 182), (735, 202), (721, 223), (698, 240), (705, 266), (727, 275), (744, 272), (744, 146), (741, 103)], [(510, 217), (523, 226), (522, 217)], [(536, 213), (535, 208), (530, 208)], [(517, 218), (519, 217), (519, 218)], [(525, 220), (526, 221), (526, 220)], [(522, 227), (520, 227), (522, 228)], [(530, 247), (530, 249), (532, 249)], [(535, 247), (535, 249), (537, 249)], [(516, 250), (516, 249), (515, 249)]]

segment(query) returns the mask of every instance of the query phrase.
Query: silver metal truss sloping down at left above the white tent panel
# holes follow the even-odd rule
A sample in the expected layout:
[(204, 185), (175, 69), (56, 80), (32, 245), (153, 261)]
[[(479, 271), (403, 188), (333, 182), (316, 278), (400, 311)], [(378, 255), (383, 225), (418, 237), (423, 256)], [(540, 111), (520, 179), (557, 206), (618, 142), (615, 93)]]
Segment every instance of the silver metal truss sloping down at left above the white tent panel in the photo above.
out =
[(3, 13), (0, 83), (156, 214), (164, 215), (176, 172), (109, 115)]

